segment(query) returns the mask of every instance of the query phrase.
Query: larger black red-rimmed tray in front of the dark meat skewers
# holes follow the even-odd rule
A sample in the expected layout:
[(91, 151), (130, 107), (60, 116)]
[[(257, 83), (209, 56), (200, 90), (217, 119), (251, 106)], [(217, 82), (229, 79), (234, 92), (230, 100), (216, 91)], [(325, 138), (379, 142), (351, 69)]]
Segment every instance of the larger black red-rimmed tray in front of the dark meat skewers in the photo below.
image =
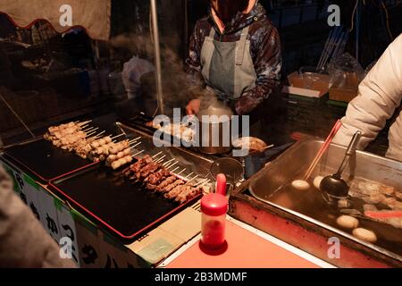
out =
[(135, 240), (201, 197), (179, 204), (146, 189), (141, 183), (130, 182), (121, 171), (113, 171), (105, 165), (94, 165), (51, 181), (50, 188), (74, 208), (127, 241)]

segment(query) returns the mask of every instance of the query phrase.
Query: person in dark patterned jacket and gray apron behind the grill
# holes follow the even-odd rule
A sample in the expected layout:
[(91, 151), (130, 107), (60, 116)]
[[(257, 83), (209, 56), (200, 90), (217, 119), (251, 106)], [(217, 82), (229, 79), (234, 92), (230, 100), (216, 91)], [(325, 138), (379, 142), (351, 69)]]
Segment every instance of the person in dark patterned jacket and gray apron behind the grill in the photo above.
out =
[[(204, 80), (236, 114), (251, 114), (279, 86), (279, 34), (257, 0), (210, 0), (186, 63), (192, 76)], [(200, 104), (199, 98), (190, 100), (186, 113), (197, 114)]]

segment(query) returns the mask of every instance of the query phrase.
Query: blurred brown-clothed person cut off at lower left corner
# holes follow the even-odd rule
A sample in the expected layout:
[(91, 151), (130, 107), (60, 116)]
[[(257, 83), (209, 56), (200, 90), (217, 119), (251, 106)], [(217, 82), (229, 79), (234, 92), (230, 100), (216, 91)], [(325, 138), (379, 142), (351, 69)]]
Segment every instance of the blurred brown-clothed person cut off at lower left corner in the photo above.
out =
[(75, 268), (60, 257), (60, 248), (13, 191), (0, 165), (0, 268)]

